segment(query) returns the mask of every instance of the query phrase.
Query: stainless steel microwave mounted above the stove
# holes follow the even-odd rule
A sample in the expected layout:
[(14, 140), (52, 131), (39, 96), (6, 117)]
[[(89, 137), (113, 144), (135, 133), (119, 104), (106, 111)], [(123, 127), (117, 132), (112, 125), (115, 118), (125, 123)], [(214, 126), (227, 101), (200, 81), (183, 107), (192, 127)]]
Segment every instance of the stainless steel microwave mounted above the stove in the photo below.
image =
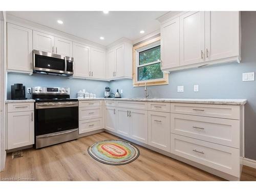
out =
[(71, 76), (74, 58), (33, 50), (33, 73)]

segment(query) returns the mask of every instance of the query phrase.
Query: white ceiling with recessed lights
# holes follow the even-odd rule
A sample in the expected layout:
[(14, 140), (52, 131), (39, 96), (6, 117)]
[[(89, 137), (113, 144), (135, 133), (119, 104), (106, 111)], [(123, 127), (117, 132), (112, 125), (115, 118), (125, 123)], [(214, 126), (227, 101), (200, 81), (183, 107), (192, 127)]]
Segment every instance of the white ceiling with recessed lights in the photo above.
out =
[[(107, 46), (115, 40), (126, 37), (136, 40), (160, 29), (157, 17), (166, 11), (10, 11), (37, 24), (57, 29), (98, 44)], [(63, 24), (57, 23), (62, 20)], [(144, 34), (140, 31), (144, 30)], [(103, 36), (104, 40), (99, 37)]]

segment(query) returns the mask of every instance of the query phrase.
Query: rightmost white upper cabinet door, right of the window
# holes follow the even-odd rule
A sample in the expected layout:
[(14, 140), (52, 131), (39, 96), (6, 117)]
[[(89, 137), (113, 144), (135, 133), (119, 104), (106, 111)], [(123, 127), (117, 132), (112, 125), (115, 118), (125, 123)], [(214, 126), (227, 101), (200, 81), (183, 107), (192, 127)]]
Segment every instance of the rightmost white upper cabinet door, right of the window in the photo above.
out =
[(205, 57), (216, 60), (239, 55), (239, 11), (205, 12)]

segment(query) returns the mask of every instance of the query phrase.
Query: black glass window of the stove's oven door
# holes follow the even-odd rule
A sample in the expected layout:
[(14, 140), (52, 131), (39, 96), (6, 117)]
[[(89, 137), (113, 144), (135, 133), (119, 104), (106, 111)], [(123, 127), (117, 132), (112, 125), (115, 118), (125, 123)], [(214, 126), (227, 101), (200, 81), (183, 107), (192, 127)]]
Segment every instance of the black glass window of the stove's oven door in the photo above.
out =
[(78, 106), (36, 110), (36, 136), (78, 128)]

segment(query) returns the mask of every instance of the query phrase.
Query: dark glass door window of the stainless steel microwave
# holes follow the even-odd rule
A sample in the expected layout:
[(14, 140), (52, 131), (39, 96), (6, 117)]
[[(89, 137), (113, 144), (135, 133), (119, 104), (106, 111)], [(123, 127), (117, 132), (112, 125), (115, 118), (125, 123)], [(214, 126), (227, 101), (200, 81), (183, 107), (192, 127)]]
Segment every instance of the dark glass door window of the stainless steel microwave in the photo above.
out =
[(55, 72), (64, 72), (65, 60), (43, 55), (35, 55), (35, 67), (41, 69), (56, 70)]

